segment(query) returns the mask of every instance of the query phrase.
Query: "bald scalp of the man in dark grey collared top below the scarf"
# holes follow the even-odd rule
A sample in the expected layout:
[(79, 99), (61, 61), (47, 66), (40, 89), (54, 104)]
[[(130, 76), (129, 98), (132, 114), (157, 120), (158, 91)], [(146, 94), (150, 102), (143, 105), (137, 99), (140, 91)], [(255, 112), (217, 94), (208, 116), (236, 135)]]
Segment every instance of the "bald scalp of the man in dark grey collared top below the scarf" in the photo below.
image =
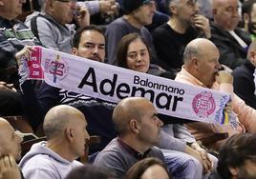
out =
[(152, 104), (142, 97), (128, 97), (121, 100), (113, 111), (113, 122), (118, 134), (124, 134), (129, 130), (131, 119), (139, 120), (144, 112), (144, 105)]

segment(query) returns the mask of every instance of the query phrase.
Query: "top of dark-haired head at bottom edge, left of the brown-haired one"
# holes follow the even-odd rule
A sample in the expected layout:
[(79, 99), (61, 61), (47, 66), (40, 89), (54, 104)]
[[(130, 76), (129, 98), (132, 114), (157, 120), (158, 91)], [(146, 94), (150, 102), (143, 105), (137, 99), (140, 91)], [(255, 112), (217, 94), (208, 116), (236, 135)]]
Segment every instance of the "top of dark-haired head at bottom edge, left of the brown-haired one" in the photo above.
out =
[(83, 167), (72, 169), (65, 179), (110, 179), (114, 175), (106, 169), (85, 164)]

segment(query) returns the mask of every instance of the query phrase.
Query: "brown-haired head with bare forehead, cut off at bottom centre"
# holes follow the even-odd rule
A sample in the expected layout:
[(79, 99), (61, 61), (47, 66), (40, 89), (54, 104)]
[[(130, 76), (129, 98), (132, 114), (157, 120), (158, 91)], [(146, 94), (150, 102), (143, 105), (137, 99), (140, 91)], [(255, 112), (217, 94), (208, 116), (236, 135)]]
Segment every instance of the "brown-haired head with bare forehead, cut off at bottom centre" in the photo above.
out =
[(124, 179), (169, 179), (164, 164), (157, 158), (145, 158), (131, 167)]

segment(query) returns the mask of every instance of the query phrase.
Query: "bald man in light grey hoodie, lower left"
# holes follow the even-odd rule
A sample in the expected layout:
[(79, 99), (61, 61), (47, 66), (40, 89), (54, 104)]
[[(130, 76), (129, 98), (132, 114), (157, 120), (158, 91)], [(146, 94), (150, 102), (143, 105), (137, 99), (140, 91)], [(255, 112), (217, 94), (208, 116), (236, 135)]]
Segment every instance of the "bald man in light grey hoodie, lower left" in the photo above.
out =
[(89, 135), (83, 113), (67, 105), (50, 109), (43, 129), (47, 141), (32, 146), (19, 166), (26, 179), (62, 179), (71, 169), (82, 166), (75, 161), (84, 155)]

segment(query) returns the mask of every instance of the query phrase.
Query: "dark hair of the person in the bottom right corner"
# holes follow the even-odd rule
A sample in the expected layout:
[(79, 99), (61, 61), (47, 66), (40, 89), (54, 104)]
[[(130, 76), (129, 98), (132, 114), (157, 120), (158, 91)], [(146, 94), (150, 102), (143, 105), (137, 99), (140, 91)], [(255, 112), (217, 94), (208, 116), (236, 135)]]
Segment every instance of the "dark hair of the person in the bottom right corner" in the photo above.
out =
[(256, 160), (256, 134), (235, 134), (221, 147), (217, 170), (224, 179), (229, 179), (230, 167), (241, 167), (250, 159)]

